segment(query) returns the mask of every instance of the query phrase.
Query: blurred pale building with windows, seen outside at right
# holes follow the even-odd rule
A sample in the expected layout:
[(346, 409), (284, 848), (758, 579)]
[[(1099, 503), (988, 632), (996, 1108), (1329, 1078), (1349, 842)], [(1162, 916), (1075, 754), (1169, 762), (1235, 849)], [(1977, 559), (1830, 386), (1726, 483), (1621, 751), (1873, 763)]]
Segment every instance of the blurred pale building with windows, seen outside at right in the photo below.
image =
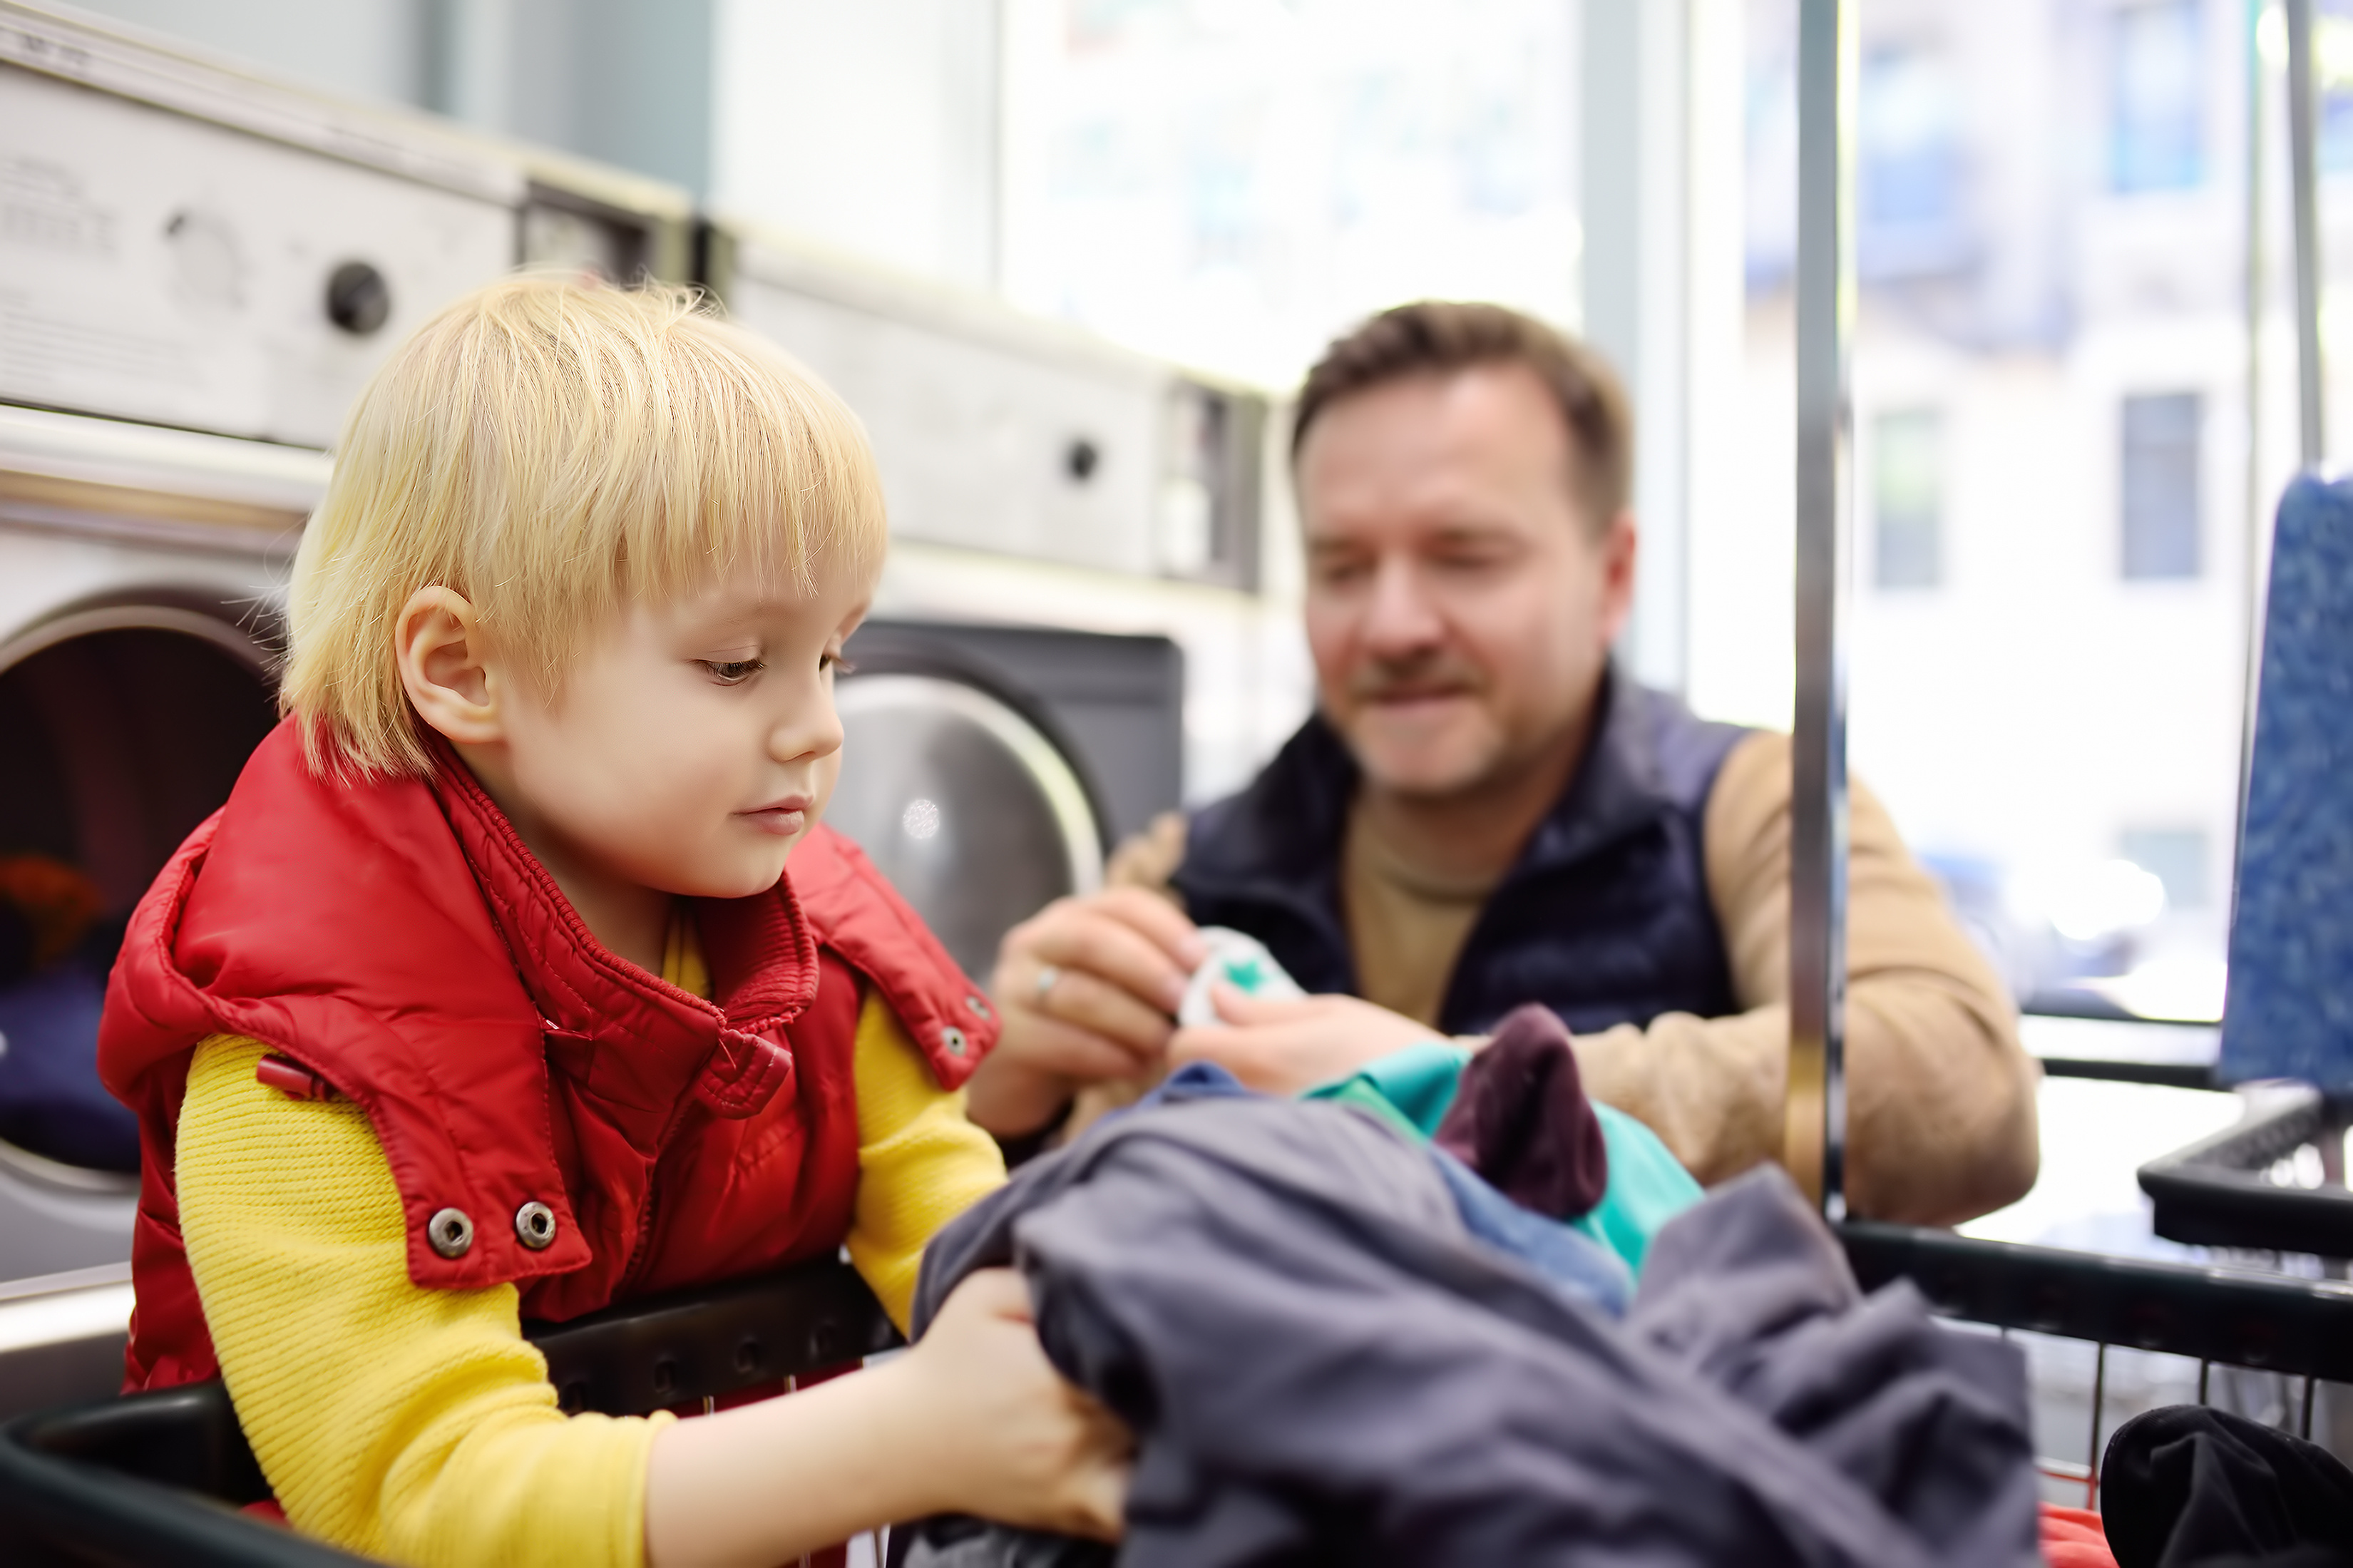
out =
[[(1692, 697), (1774, 720), (1744, 650), (1788, 645), (1751, 584), (1788, 560), (1795, 5), (1748, 21), (1760, 506), (1694, 523)], [(2353, 16), (2318, 33), (2327, 257)], [(1852, 763), (2021, 991), (2221, 1010), (2252, 546), (2297, 457), (2282, 68), (2245, 0), (1861, 12)]]

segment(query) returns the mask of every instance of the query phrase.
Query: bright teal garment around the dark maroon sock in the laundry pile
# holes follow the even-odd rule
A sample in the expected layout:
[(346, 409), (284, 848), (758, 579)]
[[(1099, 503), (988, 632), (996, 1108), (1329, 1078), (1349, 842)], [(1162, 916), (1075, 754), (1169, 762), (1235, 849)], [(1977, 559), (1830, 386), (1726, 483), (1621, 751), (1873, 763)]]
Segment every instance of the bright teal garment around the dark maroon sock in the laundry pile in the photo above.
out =
[[(1431, 1142), (1438, 1123), (1454, 1104), (1471, 1052), (1452, 1041), (1417, 1041), (1379, 1062), (1332, 1083), (1318, 1083), (1301, 1099), (1337, 1099), (1360, 1107), (1409, 1137)], [(1609, 1151), (1609, 1189), (1591, 1212), (1565, 1220), (1642, 1274), (1649, 1238), (1699, 1203), (1699, 1182), (1685, 1170), (1659, 1135), (1617, 1107), (1593, 1104), (1602, 1123), (1602, 1147)]]

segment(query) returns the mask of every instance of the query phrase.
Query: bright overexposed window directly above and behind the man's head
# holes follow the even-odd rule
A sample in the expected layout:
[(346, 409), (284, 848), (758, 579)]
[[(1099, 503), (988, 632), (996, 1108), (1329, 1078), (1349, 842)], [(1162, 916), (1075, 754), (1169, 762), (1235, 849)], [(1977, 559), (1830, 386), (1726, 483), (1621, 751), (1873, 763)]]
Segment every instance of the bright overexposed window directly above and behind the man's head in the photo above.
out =
[(1266, 386), (1405, 299), (1577, 320), (1574, 5), (1000, 9), (1014, 304)]

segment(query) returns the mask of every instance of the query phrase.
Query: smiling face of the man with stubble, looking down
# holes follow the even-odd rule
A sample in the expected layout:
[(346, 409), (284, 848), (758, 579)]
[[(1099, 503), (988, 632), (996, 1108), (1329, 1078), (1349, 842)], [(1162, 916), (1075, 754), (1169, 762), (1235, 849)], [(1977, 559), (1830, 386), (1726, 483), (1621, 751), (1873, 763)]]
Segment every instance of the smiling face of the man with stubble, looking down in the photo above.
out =
[(1595, 530), (1574, 438), (1518, 365), (1329, 405), (1299, 452), (1322, 711), (1365, 777), (1478, 789), (1584, 723), (1633, 598), (1633, 520)]

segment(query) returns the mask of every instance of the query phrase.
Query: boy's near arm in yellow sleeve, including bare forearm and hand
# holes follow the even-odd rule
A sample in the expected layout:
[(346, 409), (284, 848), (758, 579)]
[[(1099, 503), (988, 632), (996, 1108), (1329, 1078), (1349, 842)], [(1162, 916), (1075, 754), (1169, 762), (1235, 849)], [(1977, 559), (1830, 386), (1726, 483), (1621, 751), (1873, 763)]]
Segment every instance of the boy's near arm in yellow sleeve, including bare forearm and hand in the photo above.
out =
[(254, 1083), (261, 1055), (198, 1048), (179, 1203), (238, 1420), (296, 1528), (400, 1563), (659, 1568), (786, 1561), (932, 1511), (1118, 1533), (1127, 1439), (1054, 1375), (1016, 1276), (976, 1274), (915, 1351), (791, 1398), (565, 1417), (515, 1288), (409, 1281), (367, 1118)]

